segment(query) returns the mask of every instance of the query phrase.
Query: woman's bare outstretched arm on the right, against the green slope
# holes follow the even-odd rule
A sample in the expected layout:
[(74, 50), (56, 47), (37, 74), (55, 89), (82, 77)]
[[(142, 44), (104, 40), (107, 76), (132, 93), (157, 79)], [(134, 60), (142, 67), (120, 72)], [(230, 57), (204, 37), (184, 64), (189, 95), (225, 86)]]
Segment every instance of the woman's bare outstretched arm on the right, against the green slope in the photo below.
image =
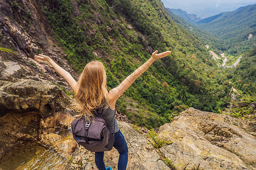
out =
[(156, 50), (154, 53), (152, 53), (152, 56), (148, 61), (146, 61), (142, 66), (140, 66), (137, 70), (135, 70), (133, 73), (131, 73), (119, 86), (113, 88), (109, 91), (109, 99), (108, 104), (111, 109), (115, 108), (115, 102), (117, 99), (131, 86), (131, 84), (144, 73), (148, 69), (148, 67), (159, 58), (166, 57), (168, 54), (170, 54), (170, 51), (163, 52), (160, 54), (157, 54), (158, 51)]

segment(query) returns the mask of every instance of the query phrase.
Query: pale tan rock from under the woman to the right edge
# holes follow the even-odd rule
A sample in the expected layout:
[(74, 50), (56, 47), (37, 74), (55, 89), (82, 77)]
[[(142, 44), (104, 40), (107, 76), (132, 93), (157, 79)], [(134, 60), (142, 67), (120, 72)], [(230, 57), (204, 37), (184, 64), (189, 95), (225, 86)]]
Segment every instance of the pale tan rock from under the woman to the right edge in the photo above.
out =
[[(251, 122), (251, 121), (250, 121)], [(189, 108), (160, 127), (158, 138), (170, 144), (156, 150), (130, 124), (119, 122), (129, 147), (127, 169), (256, 169), (255, 124)], [(117, 169), (118, 152), (105, 152), (105, 164)], [(66, 169), (97, 169), (94, 153), (77, 149)]]

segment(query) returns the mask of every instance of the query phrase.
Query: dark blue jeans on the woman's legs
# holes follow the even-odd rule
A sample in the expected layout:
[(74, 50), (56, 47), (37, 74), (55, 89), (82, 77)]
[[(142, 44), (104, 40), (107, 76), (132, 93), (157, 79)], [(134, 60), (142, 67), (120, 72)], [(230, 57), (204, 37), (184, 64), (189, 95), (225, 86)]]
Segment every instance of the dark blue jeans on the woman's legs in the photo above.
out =
[[(128, 147), (125, 141), (125, 137), (119, 130), (115, 133), (114, 148), (119, 152), (118, 170), (126, 169), (128, 162)], [(95, 152), (95, 163), (100, 170), (106, 170), (104, 163), (104, 152)]]

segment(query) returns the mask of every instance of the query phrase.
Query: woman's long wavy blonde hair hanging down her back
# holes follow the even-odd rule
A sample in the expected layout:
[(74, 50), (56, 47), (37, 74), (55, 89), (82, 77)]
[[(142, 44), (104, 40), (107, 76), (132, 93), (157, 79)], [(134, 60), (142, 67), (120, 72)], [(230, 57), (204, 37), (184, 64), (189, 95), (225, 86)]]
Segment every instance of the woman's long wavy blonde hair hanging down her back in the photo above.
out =
[(100, 61), (90, 61), (77, 81), (72, 108), (86, 119), (94, 118), (94, 109), (106, 103), (107, 95), (106, 68)]

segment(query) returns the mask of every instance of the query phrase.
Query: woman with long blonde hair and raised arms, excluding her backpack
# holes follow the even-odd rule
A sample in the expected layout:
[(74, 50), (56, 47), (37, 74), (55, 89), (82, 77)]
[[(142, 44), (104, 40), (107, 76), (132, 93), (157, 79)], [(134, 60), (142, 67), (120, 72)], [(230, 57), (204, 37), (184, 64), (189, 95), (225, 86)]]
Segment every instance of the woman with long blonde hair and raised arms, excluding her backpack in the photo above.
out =
[[(76, 103), (74, 108), (77, 109), (85, 118), (93, 117), (94, 109), (104, 107), (102, 118), (106, 121), (110, 133), (115, 133), (114, 148), (119, 152), (118, 169), (126, 169), (128, 161), (128, 148), (123, 134), (119, 130), (117, 121), (115, 120), (115, 103), (117, 99), (127, 90), (128, 87), (140, 76), (147, 68), (159, 58), (166, 57), (170, 51), (157, 54), (156, 50), (152, 53), (142, 66), (127, 76), (125, 80), (117, 87), (108, 92), (106, 86), (106, 69), (99, 61), (89, 62), (82, 71), (79, 80), (75, 79), (67, 71), (57, 65), (50, 57), (39, 54), (35, 56), (39, 61), (48, 61), (54, 69), (61, 75), (75, 91)], [(114, 128), (115, 125), (115, 128)], [(95, 152), (95, 163), (98, 169), (105, 168), (104, 152)]]

